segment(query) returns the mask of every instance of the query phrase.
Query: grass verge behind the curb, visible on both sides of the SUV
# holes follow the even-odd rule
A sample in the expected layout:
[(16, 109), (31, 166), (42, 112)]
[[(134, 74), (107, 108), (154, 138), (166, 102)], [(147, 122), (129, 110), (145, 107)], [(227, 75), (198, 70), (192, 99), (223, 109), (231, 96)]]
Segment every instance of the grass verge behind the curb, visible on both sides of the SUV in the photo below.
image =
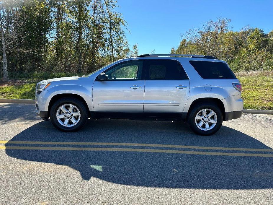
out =
[[(43, 78), (37, 79), (34, 76)], [(42, 74), (34, 76), (32, 78), (11, 78), (20, 80), (21, 83), (18, 81), (10, 84), (0, 82), (0, 98), (35, 99), (36, 83), (47, 78)], [(238, 72), (236, 76), (243, 86), (244, 108), (273, 110), (273, 71)], [(60, 77), (64, 77), (64, 74)]]

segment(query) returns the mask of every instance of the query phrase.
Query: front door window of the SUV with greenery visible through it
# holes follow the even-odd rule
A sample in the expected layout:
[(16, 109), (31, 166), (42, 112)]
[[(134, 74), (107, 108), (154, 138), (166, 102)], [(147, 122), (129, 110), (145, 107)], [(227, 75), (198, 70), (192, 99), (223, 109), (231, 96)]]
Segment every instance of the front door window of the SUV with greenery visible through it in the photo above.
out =
[(109, 80), (141, 79), (143, 61), (129, 61), (117, 64), (108, 69), (105, 74)]

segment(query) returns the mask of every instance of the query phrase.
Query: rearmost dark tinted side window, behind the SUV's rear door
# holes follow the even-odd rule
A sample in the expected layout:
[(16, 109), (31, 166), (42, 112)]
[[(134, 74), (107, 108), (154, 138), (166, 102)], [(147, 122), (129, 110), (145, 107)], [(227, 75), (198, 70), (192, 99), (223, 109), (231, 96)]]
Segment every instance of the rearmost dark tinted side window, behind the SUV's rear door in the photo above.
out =
[(223, 62), (189, 61), (197, 73), (204, 79), (236, 79), (235, 75)]

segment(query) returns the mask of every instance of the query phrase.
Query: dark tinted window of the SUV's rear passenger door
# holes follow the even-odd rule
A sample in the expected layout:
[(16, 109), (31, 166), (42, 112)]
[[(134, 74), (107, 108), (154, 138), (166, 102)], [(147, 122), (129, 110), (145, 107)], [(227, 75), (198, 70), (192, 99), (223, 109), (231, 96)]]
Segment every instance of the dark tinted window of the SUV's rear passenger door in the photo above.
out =
[(151, 80), (188, 79), (183, 67), (175, 60), (149, 60), (148, 78)]

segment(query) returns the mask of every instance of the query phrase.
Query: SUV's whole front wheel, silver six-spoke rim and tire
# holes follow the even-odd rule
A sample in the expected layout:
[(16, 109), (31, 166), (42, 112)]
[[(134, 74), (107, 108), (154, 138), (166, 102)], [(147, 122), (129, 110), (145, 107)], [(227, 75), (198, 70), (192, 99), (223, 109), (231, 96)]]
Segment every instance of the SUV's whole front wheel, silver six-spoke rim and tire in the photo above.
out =
[(88, 110), (81, 100), (64, 97), (51, 107), (50, 120), (59, 130), (73, 132), (82, 128), (88, 119)]

